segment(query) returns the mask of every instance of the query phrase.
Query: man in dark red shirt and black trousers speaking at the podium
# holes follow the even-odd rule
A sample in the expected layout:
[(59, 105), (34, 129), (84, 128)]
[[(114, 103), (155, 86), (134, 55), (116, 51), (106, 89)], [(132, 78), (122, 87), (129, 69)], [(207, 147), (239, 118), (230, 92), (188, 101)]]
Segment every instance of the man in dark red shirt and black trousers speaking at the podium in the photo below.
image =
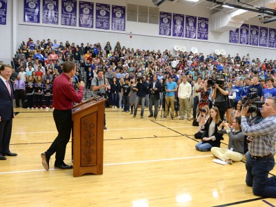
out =
[(49, 170), (50, 157), (56, 152), (55, 168), (71, 169), (64, 163), (66, 145), (70, 139), (72, 130), (72, 107), (73, 101), (80, 103), (83, 97), (83, 81), (79, 83), (79, 91), (77, 92), (70, 78), (76, 73), (76, 64), (72, 61), (63, 63), (63, 73), (55, 78), (52, 88), (52, 107), (55, 108), (53, 117), (59, 134), (46, 152), (41, 154), (42, 165)]

